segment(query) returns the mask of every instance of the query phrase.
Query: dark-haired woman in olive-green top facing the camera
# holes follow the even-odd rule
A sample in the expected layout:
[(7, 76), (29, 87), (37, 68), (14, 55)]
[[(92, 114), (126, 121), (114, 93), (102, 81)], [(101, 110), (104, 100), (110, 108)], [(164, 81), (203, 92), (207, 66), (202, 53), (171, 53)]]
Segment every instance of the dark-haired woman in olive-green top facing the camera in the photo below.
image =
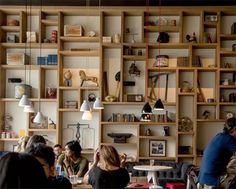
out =
[(77, 175), (83, 177), (88, 170), (88, 160), (81, 156), (82, 148), (77, 140), (67, 142), (65, 153), (60, 155), (58, 164), (64, 170), (65, 176)]

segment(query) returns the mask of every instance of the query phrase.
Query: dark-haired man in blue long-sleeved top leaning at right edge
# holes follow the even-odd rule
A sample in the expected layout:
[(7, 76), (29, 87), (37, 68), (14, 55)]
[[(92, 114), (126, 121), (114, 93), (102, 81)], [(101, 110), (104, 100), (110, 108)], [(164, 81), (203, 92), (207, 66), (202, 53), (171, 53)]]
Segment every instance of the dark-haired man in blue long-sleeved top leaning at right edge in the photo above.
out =
[(225, 178), (226, 167), (236, 152), (236, 118), (225, 121), (222, 133), (218, 133), (207, 145), (199, 173), (199, 183), (202, 188), (220, 186)]

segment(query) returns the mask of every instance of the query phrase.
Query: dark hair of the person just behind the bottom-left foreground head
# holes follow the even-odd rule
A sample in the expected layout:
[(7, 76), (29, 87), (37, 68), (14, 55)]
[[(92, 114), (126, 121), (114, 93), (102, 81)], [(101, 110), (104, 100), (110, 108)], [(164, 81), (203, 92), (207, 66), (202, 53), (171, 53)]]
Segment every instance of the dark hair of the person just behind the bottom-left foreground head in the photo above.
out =
[(55, 155), (53, 148), (50, 146), (47, 146), (43, 143), (36, 143), (26, 148), (25, 152), (33, 155), (34, 157), (43, 159), (45, 162), (47, 162), (49, 167), (54, 166)]

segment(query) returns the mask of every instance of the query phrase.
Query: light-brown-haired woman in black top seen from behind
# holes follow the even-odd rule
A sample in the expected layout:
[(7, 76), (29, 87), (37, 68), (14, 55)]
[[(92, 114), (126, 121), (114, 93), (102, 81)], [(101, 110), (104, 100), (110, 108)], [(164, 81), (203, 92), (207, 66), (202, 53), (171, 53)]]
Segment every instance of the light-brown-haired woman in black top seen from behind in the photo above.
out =
[(84, 182), (93, 189), (123, 189), (129, 183), (129, 174), (121, 164), (126, 156), (119, 156), (113, 146), (101, 146), (94, 154), (94, 162), (84, 176)]

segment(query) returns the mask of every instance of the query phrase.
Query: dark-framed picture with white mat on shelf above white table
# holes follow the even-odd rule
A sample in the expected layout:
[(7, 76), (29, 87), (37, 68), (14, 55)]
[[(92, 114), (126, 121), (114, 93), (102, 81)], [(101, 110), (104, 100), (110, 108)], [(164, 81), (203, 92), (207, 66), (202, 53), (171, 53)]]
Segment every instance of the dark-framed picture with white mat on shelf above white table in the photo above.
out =
[(149, 140), (149, 156), (165, 157), (166, 156), (166, 140)]

